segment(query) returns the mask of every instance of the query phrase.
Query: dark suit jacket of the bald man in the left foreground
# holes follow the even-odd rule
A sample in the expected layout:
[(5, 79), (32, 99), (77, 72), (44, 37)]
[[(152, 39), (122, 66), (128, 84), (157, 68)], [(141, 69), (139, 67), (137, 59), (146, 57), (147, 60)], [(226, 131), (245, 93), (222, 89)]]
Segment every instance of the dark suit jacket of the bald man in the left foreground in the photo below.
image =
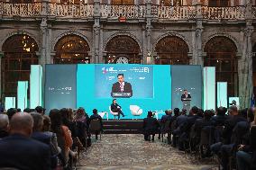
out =
[(50, 170), (49, 146), (19, 134), (0, 140), (0, 167)]

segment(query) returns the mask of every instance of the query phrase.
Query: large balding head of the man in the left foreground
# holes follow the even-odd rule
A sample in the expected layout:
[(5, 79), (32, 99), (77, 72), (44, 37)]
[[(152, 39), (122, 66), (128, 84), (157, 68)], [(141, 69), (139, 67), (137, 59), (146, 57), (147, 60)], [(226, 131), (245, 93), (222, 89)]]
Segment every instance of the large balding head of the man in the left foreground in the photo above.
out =
[(17, 112), (10, 121), (10, 134), (21, 134), (25, 137), (30, 137), (32, 127), (32, 115), (27, 112)]

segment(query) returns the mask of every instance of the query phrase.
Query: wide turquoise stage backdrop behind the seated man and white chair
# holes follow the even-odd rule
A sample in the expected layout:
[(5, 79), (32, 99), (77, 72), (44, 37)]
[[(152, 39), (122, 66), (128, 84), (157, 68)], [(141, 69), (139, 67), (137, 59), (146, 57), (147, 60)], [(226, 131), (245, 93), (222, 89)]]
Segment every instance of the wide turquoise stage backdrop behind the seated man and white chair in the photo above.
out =
[[(143, 71), (135, 72), (134, 68)], [(104, 74), (103, 72), (107, 71), (105, 69), (118, 71)], [(133, 97), (117, 98), (117, 103), (122, 106), (126, 115), (125, 119), (134, 118), (130, 111), (131, 105), (137, 105), (142, 109), (142, 115), (136, 117), (137, 119), (145, 118), (148, 111), (171, 108), (170, 66), (82, 64), (78, 65), (77, 72), (77, 107), (84, 107), (89, 115), (95, 108), (98, 112), (109, 112), (113, 100), (110, 95), (111, 86), (116, 82), (119, 72), (124, 74), (125, 81), (133, 85)], [(112, 119), (113, 116), (109, 115)]]

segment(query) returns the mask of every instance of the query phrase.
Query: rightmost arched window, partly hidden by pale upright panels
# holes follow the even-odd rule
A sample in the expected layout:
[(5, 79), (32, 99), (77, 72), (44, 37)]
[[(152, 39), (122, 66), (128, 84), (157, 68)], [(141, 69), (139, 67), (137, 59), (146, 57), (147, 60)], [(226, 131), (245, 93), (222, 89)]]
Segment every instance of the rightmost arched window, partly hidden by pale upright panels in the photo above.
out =
[(206, 43), (205, 67), (215, 67), (216, 82), (228, 83), (228, 95), (235, 96), (238, 93), (238, 76), (236, 46), (233, 40), (217, 36)]

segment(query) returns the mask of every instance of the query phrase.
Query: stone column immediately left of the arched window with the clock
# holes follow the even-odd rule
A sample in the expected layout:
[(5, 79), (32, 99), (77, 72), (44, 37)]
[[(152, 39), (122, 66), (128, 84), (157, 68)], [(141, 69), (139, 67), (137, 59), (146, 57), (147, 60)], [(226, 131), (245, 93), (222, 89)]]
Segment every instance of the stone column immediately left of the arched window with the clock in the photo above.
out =
[(102, 56), (99, 55), (100, 46), (100, 0), (94, 1), (94, 18), (95, 23), (93, 26), (93, 51), (92, 51), (92, 63), (102, 62)]

